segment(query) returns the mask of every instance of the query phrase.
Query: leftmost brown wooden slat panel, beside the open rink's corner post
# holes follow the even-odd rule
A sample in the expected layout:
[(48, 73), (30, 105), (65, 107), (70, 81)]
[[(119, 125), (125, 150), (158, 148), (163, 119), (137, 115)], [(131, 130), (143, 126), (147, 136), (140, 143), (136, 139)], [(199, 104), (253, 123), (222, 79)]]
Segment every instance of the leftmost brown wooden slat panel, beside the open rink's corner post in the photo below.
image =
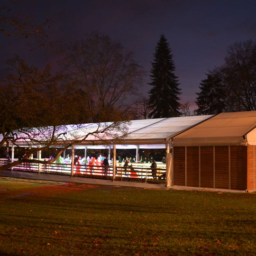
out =
[(185, 147), (174, 148), (174, 185), (185, 186)]

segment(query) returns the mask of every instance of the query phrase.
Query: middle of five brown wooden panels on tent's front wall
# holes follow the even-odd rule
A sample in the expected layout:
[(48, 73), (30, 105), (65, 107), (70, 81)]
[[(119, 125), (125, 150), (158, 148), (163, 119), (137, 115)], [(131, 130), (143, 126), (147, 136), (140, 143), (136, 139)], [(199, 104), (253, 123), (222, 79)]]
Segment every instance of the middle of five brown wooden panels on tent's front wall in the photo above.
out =
[(213, 188), (213, 146), (201, 146), (201, 187)]

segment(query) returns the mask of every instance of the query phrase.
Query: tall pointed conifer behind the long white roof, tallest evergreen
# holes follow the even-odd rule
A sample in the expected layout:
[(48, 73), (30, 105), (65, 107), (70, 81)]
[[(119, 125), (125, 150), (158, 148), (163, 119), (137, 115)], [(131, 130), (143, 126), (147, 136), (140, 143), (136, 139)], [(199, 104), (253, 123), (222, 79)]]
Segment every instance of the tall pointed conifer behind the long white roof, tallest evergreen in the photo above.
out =
[(152, 88), (149, 91), (150, 118), (180, 116), (178, 77), (174, 75), (173, 55), (167, 39), (161, 35), (155, 47), (154, 62), (150, 71)]

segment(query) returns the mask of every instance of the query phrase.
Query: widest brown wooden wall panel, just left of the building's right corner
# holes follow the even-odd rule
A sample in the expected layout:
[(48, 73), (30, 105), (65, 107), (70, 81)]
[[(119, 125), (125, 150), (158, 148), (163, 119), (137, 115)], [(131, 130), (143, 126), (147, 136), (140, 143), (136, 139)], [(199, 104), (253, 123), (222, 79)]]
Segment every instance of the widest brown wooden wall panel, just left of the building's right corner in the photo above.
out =
[(230, 146), (230, 189), (247, 189), (247, 147)]

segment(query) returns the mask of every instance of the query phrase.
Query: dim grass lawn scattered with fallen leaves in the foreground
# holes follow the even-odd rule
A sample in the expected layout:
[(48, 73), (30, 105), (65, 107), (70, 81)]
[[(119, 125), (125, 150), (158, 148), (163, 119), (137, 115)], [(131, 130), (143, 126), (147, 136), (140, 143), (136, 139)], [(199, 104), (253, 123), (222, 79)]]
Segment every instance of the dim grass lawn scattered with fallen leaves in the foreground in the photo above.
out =
[(256, 254), (256, 194), (0, 177), (0, 255), (234, 254)]

